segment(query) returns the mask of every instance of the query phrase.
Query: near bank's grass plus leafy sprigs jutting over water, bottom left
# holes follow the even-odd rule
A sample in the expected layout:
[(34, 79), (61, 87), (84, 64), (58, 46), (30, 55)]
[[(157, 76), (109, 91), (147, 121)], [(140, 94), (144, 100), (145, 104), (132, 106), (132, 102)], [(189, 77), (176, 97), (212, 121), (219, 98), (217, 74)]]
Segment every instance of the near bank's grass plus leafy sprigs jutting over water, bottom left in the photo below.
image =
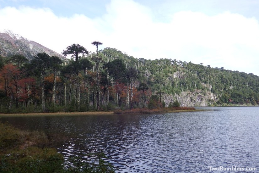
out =
[(91, 155), (88, 161), (73, 157), (65, 162), (50, 144), (43, 132), (20, 131), (0, 123), (0, 172), (115, 172), (103, 153)]

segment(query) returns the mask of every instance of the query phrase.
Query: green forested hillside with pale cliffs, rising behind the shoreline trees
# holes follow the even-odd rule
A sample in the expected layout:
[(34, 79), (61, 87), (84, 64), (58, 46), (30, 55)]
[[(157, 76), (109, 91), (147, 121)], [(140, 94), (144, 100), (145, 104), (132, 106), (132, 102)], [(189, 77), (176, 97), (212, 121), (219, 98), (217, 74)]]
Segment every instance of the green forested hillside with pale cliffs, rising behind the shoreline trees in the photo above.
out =
[(176, 59), (135, 59), (113, 48), (101, 51), (106, 59), (122, 59), (138, 70), (139, 82), (152, 93), (165, 92), (166, 105), (175, 98), (181, 106), (257, 105), (259, 77)]

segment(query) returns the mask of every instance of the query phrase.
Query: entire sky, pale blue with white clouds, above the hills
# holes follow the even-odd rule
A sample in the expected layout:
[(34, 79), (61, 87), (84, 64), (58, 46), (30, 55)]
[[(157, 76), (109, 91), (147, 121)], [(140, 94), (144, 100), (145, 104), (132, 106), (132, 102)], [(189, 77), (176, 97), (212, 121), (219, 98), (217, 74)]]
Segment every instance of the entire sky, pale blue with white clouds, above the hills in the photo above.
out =
[(62, 53), (76, 43), (259, 75), (258, 0), (0, 0), (0, 29)]

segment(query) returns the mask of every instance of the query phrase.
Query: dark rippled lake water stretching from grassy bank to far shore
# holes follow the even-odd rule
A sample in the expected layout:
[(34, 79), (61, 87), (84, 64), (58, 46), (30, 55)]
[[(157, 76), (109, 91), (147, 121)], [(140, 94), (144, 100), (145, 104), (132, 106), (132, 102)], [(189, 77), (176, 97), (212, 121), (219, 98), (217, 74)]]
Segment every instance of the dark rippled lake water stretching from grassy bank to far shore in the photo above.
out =
[(259, 107), (198, 109), (207, 111), (0, 117), (0, 121), (64, 136), (57, 148), (66, 158), (104, 152), (119, 167), (117, 172), (210, 172), (209, 166), (258, 171)]

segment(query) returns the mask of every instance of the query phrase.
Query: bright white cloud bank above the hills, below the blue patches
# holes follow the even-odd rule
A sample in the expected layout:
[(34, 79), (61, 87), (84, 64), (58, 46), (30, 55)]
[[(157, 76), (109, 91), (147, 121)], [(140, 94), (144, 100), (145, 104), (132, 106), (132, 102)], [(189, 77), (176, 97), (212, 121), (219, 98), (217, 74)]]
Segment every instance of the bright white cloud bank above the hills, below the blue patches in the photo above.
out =
[(208, 16), (181, 11), (154, 22), (150, 8), (132, 0), (112, 0), (106, 14), (90, 19), (74, 14), (57, 17), (49, 8), (21, 6), (0, 9), (1, 26), (61, 53), (81, 44), (95, 51), (92, 41), (137, 58), (171, 58), (259, 75), (259, 24), (255, 18), (224, 12)]

